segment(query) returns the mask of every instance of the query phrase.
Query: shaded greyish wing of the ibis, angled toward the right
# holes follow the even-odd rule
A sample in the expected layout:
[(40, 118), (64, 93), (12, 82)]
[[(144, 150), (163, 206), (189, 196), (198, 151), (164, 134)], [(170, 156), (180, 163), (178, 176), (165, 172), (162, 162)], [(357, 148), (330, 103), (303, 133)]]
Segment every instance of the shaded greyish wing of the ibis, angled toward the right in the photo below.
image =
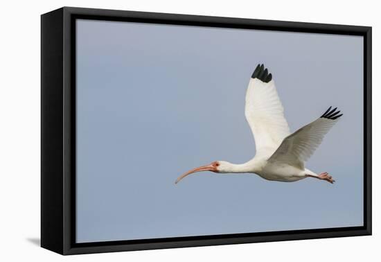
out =
[(281, 146), (269, 158), (269, 161), (290, 164), (296, 168), (304, 169), (304, 162), (311, 157), (323, 141), (323, 137), (343, 115), (339, 114), (340, 111), (336, 111), (337, 107), (333, 110), (331, 108), (328, 108), (319, 119), (286, 137)]

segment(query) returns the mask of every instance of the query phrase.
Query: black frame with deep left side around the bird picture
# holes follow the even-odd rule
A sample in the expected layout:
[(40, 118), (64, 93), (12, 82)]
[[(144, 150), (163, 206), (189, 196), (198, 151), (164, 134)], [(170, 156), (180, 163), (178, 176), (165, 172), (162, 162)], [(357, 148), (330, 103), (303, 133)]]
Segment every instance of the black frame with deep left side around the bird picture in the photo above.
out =
[[(76, 243), (76, 19), (249, 28), (364, 37), (364, 226)], [(371, 234), (371, 27), (64, 7), (41, 17), (41, 246), (60, 254)]]

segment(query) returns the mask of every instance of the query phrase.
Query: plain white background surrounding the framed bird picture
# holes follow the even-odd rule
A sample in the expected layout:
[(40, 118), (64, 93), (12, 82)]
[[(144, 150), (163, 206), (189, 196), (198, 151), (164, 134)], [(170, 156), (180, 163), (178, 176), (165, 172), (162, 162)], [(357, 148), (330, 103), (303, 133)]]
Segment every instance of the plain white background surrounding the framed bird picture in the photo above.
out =
[[(40, 18), (62, 6), (373, 26), (373, 236), (60, 256), (39, 245)], [(377, 1), (7, 1), (0, 16), (1, 261), (378, 261), (381, 18)]]

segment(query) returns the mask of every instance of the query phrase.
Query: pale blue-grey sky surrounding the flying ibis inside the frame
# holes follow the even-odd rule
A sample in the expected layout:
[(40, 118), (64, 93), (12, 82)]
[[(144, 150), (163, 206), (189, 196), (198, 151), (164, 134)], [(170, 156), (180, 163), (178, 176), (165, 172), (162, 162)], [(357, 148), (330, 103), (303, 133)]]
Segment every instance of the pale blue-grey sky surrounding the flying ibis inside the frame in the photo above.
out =
[[(77, 21), (77, 241), (363, 223), (362, 37)], [(337, 182), (191, 175), (255, 155), (244, 115), (256, 64), (292, 131), (344, 116), (306, 164)]]

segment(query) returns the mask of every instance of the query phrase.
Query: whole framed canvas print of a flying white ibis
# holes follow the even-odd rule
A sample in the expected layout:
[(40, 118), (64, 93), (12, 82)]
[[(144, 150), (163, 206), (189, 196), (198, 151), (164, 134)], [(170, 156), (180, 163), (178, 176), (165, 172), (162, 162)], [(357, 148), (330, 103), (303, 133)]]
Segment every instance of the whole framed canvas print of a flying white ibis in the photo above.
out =
[(371, 234), (371, 27), (42, 15), (41, 245)]

